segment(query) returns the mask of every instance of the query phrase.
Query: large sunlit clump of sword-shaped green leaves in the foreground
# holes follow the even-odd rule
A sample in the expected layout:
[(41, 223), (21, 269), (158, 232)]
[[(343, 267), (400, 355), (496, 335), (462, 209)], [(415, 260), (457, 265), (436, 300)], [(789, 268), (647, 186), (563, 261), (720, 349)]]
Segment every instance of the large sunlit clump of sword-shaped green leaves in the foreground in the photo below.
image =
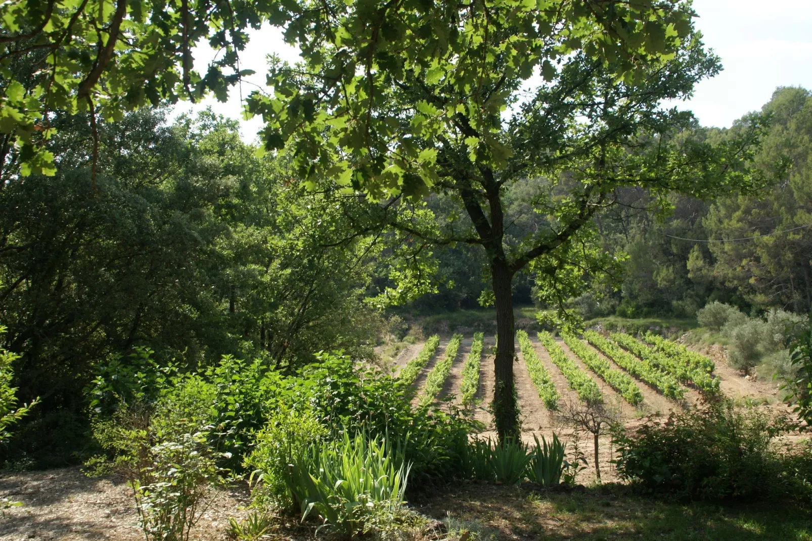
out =
[(385, 440), (344, 433), (295, 457), (287, 482), (302, 520), (314, 513), (322, 527), (352, 536), (365, 534), (374, 515), (404, 504), (409, 470), (403, 454)]

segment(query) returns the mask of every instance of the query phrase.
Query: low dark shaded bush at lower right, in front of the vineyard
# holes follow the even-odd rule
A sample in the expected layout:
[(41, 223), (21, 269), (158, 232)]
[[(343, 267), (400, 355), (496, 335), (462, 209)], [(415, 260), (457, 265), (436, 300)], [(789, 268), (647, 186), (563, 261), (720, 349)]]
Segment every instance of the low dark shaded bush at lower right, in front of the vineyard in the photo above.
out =
[(720, 400), (666, 421), (649, 419), (634, 435), (615, 434), (621, 478), (645, 491), (681, 498), (767, 498), (783, 490), (770, 442), (781, 418)]

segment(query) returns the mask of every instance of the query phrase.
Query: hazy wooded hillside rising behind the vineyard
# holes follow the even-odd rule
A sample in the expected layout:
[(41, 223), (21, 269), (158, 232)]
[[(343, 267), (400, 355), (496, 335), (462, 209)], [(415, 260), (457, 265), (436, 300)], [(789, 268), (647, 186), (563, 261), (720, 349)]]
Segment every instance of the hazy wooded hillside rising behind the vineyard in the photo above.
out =
[[(812, 307), (812, 101), (800, 88), (777, 89), (762, 112), (771, 127), (758, 151), (758, 167), (775, 182), (758, 193), (713, 200), (670, 197), (656, 212), (642, 188), (620, 190), (620, 204), (595, 219), (601, 248), (624, 254), (624, 271), (611, 284), (568, 300), (581, 317), (693, 318), (711, 301), (757, 315), (778, 307), (806, 314)], [(744, 119), (742, 119), (744, 120)], [(741, 121), (732, 131), (741, 129)], [(708, 128), (709, 134), (726, 132)], [(531, 180), (527, 181), (532, 183)], [(515, 236), (533, 228), (533, 210), (516, 212)], [(759, 237), (759, 238), (754, 238)], [(477, 307), (484, 275), (482, 254), (465, 247), (438, 252), (448, 282), (415, 301), (421, 309)], [(687, 262), (687, 264), (686, 264)], [(448, 283), (451, 283), (449, 285)], [(533, 276), (517, 281), (520, 304), (546, 306)]]

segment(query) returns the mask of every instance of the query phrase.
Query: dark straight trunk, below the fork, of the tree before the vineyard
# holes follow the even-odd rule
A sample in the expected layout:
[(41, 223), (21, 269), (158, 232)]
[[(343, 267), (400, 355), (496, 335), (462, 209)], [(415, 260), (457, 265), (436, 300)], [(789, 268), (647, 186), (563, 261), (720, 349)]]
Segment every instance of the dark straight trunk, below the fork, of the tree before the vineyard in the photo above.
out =
[(520, 438), (519, 408), (516, 405), (516, 392), (513, 385), (513, 275), (507, 262), (495, 258), (490, 265), (496, 306), (496, 357), (494, 358), (494, 401), (490, 407), (494, 413), (499, 442)]

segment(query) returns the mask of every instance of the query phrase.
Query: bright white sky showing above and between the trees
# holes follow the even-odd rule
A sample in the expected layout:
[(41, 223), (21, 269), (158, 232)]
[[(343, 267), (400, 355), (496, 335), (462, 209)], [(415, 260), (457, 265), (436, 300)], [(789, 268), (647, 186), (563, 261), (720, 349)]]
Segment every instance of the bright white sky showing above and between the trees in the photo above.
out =
[[(729, 127), (733, 120), (758, 110), (778, 86), (812, 89), (812, 0), (694, 0), (697, 28), (705, 44), (722, 58), (724, 70), (697, 85), (693, 97), (680, 108), (693, 110), (705, 126)], [(296, 62), (298, 51), (284, 43), (277, 28), (251, 32), (240, 65), (257, 74), (244, 79), (242, 95), (247, 97), (260, 85), (265, 87), (265, 55), (279, 54)], [(205, 71), (213, 56), (206, 47), (195, 50), (195, 66)], [(218, 114), (240, 119), (240, 89), (231, 89), (226, 103), (209, 97), (205, 102), (180, 103), (175, 113), (212, 106)], [(261, 119), (242, 122), (244, 139), (253, 141)]]

